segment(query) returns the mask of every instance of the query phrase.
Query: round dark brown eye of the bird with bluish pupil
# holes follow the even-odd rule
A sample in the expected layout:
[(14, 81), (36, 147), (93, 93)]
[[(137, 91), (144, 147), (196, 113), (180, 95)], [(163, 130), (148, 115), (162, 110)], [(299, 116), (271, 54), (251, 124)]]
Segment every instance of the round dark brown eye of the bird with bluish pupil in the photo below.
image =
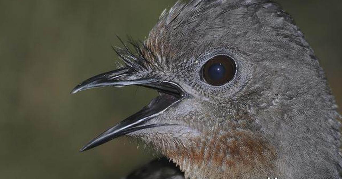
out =
[(217, 55), (203, 66), (202, 76), (207, 83), (222, 86), (234, 78), (235, 72), (235, 62), (229, 56)]

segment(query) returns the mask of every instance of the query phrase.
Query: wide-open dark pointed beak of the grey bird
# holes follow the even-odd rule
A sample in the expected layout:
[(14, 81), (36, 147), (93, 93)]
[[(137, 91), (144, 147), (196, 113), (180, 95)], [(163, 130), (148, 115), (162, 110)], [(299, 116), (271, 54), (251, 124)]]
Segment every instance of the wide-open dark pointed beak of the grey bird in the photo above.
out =
[(71, 93), (74, 94), (82, 90), (96, 88), (96, 87), (104, 87), (104, 86), (122, 87), (122, 86), (129, 86), (129, 85), (144, 86), (144, 87), (153, 88), (159, 91), (159, 96), (153, 99), (147, 106), (143, 107), (142, 110), (133, 114), (127, 119), (124, 119), (122, 122), (120, 122), (116, 126), (109, 128), (108, 130), (103, 132), (101, 135), (91, 140), (88, 144), (86, 144), (80, 150), (81, 152), (89, 150), (105, 142), (108, 142), (112, 139), (115, 139), (117, 137), (126, 135), (128, 133), (131, 133), (137, 130), (172, 125), (172, 124), (160, 124), (158, 122), (152, 123), (152, 124), (151, 123), (146, 124), (146, 123), (150, 119), (155, 118), (160, 113), (165, 111), (172, 104), (186, 97), (185, 92), (179, 87), (179, 85), (173, 82), (162, 81), (156, 78), (132, 77), (134, 76), (133, 74), (134, 73), (130, 69), (127, 69), (127, 68), (121, 68), (115, 71), (110, 71), (110, 72), (96, 75), (92, 78), (87, 79), (86, 81), (82, 82), (71, 91)]

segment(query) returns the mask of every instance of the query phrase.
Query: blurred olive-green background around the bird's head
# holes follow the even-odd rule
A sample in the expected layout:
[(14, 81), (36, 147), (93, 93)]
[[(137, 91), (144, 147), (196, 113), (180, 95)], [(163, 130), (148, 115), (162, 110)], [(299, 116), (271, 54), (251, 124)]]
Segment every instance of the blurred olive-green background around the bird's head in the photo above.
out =
[[(0, 0), (0, 178), (120, 178), (152, 158), (125, 138), (78, 150), (156, 92), (137, 87), (69, 92), (115, 68), (116, 34), (143, 40), (174, 2)], [(342, 1), (279, 2), (314, 48), (341, 106)]]

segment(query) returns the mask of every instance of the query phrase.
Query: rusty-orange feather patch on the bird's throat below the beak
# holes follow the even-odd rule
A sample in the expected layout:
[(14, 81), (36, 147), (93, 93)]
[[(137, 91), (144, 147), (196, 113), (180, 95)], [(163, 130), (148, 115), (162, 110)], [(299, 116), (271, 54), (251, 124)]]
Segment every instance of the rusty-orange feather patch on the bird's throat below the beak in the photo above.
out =
[(269, 143), (241, 131), (196, 139), (192, 146), (178, 145), (165, 153), (190, 178), (255, 176), (256, 171), (272, 172), (276, 159)]

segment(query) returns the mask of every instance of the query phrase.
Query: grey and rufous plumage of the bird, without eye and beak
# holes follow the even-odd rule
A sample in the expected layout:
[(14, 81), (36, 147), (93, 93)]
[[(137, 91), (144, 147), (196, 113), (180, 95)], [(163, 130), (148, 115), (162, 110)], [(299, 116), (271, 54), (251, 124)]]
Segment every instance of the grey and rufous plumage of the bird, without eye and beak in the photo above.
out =
[[(117, 49), (130, 70), (118, 80), (171, 81), (188, 97), (146, 122), (176, 125), (127, 135), (151, 143), (186, 178), (341, 178), (337, 105), (314, 51), (277, 3), (177, 2), (135, 48)], [(220, 54), (237, 71), (211, 86), (201, 69)]]

